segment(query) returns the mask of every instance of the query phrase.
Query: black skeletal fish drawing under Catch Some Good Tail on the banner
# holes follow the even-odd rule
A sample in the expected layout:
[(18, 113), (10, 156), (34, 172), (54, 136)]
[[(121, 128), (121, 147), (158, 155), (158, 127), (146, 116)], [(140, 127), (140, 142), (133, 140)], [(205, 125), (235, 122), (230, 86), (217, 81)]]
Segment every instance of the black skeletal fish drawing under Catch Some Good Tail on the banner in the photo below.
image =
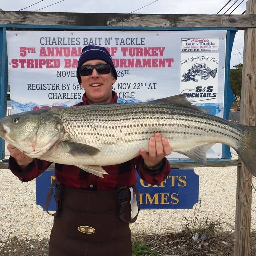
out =
[(207, 80), (210, 76), (215, 78), (217, 74), (217, 68), (211, 70), (205, 63), (196, 63), (190, 68), (185, 74), (182, 75), (184, 77), (182, 82), (194, 81), (198, 82), (196, 77), (201, 76), (201, 79)]

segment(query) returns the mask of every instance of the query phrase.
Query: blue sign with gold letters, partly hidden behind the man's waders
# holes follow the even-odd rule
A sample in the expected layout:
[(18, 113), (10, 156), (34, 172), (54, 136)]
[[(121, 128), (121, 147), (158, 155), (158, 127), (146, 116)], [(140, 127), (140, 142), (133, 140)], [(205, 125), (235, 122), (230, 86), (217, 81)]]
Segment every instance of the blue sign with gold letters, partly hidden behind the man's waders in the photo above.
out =
[[(36, 178), (36, 204), (45, 211), (45, 201), (54, 170), (46, 170)], [(137, 188), (141, 209), (192, 209), (198, 202), (199, 176), (194, 169), (172, 169), (167, 178), (158, 185), (150, 185), (137, 174)], [(49, 211), (56, 210), (53, 196)]]

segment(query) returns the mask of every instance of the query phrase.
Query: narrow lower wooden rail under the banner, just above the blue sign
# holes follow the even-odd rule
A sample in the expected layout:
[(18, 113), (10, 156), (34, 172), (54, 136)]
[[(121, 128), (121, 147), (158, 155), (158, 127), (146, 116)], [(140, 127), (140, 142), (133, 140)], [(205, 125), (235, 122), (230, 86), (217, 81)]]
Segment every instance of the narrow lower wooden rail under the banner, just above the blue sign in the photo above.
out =
[[(199, 163), (170, 163), (173, 169), (176, 168), (196, 168), (196, 167), (230, 167), (230, 166), (241, 166), (241, 160), (231, 160), (227, 162), (216, 162), (209, 161), (207, 165), (202, 165)], [(7, 162), (0, 162), (0, 169), (8, 169)], [(48, 169), (54, 169), (54, 164), (51, 164)]]

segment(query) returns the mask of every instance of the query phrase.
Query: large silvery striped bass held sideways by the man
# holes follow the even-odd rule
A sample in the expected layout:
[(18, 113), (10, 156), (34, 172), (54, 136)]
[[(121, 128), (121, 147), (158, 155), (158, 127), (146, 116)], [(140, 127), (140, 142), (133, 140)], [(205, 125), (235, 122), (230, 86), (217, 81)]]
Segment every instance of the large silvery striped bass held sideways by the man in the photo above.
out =
[(236, 150), (256, 176), (256, 127), (204, 113), (183, 95), (149, 102), (104, 103), (23, 112), (0, 119), (0, 137), (27, 156), (75, 165), (103, 177), (101, 166), (126, 162), (156, 132), (172, 151), (206, 164), (215, 143)]

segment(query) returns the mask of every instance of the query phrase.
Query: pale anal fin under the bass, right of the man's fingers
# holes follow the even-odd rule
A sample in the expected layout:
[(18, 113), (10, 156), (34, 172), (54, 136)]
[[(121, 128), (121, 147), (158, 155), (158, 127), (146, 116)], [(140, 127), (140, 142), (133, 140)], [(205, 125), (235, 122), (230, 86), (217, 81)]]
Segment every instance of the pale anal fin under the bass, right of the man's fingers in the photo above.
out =
[(176, 151), (178, 153), (181, 153), (194, 161), (198, 162), (199, 164), (207, 164), (206, 160), (206, 152), (207, 150), (212, 147), (215, 143), (209, 143), (209, 144), (204, 144), (200, 145), (194, 148), (191, 148), (189, 150), (182, 150), (182, 151)]

